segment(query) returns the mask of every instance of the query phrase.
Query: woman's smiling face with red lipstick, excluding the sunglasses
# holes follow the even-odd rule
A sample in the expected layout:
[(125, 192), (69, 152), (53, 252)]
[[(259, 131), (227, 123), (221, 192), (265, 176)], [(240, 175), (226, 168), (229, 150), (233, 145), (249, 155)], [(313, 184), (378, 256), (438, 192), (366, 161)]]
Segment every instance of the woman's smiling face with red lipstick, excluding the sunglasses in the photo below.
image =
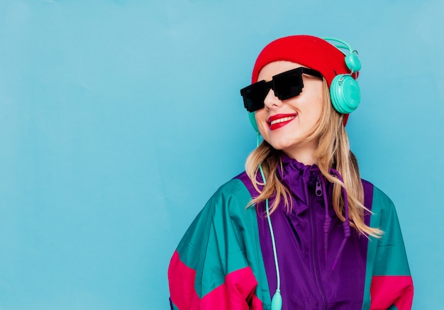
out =
[[(257, 81), (270, 81), (276, 74), (304, 67), (295, 62), (270, 62), (262, 68)], [(304, 88), (299, 96), (279, 100), (270, 89), (265, 97), (265, 107), (255, 112), (257, 128), (262, 137), (277, 150), (283, 150), (290, 157), (298, 159), (298, 154), (313, 153), (318, 145), (316, 140), (308, 140), (321, 117), (323, 107), (323, 82), (318, 77), (303, 74)], [(306, 155), (304, 155), (306, 156)]]

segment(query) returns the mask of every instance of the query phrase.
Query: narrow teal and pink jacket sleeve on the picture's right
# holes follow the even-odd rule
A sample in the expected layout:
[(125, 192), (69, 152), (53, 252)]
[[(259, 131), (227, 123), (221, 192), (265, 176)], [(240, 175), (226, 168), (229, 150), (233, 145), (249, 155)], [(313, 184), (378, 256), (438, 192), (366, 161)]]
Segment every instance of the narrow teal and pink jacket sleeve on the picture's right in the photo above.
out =
[(371, 310), (409, 310), (414, 296), (404, 240), (392, 201), (375, 189), (373, 204), (379, 209), (379, 227), (384, 236), (377, 242), (370, 287)]

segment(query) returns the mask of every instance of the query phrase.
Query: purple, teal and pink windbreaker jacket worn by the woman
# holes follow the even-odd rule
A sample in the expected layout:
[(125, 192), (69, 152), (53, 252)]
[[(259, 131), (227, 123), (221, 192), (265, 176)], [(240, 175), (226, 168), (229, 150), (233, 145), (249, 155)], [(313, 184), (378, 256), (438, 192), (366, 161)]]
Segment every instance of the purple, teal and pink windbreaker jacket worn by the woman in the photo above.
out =
[[(282, 310), (411, 309), (413, 282), (389, 197), (362, 180), (365, 223), (384, 231), (367, 238), (336, 216), (333, 184), (316, 165), (282, 154), (278, 174), (292, 199), (290, 211), (279, 206), (270, 217)], [(243, 172), (209, 199), (172, 255), (171, 309), (270, 309), (277, 272), (265, 204), (245, 208), (257, 195)]]

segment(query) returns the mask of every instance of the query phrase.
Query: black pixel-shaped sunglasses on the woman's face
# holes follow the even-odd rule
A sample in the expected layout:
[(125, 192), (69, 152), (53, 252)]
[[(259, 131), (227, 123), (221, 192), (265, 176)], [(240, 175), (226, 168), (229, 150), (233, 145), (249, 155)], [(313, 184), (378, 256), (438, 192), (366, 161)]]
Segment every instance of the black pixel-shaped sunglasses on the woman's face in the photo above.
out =
[(270, 89), (273, 89), (274, 96), (277, 96), (280, 100), (290, 99), (301, 94), (304, 87), (302, 74), (309, 74), (322, 79), (321, 72), (306, 67), (279, 73), (274, 75), (270, 82), (260, 81), (240, 89), (240, 94), (243, 96), (243, 106), (248, 112), (262, 109), (265, 97)]

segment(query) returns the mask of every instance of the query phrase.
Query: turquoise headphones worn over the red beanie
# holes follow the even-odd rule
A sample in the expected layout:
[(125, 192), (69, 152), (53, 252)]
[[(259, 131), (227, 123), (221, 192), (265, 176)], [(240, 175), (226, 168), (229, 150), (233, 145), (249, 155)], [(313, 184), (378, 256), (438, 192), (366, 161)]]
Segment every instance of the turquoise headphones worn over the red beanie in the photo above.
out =
[[(361, 69), (361, 62), (358, 58), (357, 51), (352, 50), (350, 45), (345, 41), (336, 38), (323, 38), (323, 40), (337, 42), (339, 44), (333, 44), (336, 48), (348, 50), (348, 55), (345, 55), (344, 61), (350, 73), (335, 76), (330, 85), (330, 99), (336, 111), (340, 114), (349, 114), (355, 111), (361, 100), (360, 87), (356, 80), (353, 79), (353, 74), (357, 74)], [(250, 118), (252, 128), (259, 132), (255, 112), (249, 112), (248, 117)]]

